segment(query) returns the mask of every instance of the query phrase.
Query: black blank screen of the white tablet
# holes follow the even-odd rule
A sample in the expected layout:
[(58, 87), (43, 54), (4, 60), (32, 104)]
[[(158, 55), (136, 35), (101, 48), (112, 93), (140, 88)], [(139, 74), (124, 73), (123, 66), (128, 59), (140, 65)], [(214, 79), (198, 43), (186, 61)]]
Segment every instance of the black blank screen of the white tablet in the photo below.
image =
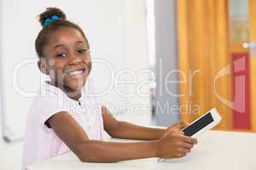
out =
[(206, 127), (211, 122), (213, 122), (213, 118), (211, 112), (209, 112), (205, 116), (202, 116), (201, 119), (189, 125), (189, 127), (183, 129), (184, 135), (192, 136), (193, 134), (200, 131), (203, 127)]

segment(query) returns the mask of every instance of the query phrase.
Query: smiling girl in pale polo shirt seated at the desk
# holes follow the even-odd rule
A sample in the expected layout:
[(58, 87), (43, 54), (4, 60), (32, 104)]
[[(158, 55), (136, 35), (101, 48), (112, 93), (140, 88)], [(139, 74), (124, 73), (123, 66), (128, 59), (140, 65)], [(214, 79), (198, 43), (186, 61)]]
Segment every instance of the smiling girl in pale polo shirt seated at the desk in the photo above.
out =
[[(166, 129), (119, 122), (88, 95), (90, 47), (84, 31), (58, 8), (40, 14), (43, 29), (36, 39), (38, 68), (50, 81), (32, 102), (27, 117), (23, 169), (70, 150), (81, 161), (115, 162), (137, 158), (186, 156), (196, 139), (183, 136), (183, 122)], [(86, 87), (86, 88), (85, 88)], [(137, 143), (102, 141), (143, 139)]]

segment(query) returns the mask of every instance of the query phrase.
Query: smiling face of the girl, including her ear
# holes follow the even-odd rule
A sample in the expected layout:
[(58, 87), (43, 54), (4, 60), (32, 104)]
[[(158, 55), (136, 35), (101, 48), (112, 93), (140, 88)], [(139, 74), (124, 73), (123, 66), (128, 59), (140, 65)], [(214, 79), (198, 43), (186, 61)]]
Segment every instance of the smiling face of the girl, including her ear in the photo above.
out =
[(80, 94), (91, 70), (88, 44), (80, 31), (73, 28), (60, 28), (49, 35), (44, 47), (44, 73), (52, 82), (64, 89), (68, 96), (76, 98)]

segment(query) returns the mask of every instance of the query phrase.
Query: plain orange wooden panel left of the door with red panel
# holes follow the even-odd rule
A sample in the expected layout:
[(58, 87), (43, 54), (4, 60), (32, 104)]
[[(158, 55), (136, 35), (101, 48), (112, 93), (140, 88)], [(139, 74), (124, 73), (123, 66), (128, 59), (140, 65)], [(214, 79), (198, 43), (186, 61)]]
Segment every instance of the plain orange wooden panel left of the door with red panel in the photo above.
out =
[(227, 9), (225, 0), (177, 1), (181, 119), (192, 122), (215, 107), (224, 130), (232, 127), (232, 111), (219, 99), (232, 101), (231, 74), (219, 76), (231, 65)]

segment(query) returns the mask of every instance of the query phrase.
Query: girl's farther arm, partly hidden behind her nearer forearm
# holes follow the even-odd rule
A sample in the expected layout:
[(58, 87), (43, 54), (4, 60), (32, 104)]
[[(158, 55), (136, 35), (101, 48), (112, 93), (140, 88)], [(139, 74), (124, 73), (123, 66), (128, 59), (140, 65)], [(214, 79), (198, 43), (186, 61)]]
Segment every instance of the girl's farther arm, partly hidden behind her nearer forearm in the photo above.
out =
[(166, 129), (142, 127), (130, 122), (119, 122), (112, 116), (105, 106), (102, 106), (102, 117), (104, 129), (111, 137), (118, 139), (155, 140), (160, 139), (166, 133), (167, 129), (179, 131), (187, 126), (187, 123), (179, 122)]

